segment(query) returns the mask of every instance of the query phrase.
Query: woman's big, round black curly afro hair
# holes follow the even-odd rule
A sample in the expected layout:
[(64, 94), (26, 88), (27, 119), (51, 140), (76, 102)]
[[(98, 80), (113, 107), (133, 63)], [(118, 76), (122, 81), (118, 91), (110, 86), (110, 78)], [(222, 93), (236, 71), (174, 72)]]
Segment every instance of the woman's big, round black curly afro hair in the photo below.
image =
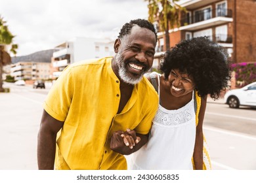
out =
[(200, 97), (209, 94), (218, 99), (230, 80), (226, 50), (207, 37), (184, 40), (167, 50), (160, 70), (168, 78), (171, 69), (179, 69), (181, 73), (191, 76)]

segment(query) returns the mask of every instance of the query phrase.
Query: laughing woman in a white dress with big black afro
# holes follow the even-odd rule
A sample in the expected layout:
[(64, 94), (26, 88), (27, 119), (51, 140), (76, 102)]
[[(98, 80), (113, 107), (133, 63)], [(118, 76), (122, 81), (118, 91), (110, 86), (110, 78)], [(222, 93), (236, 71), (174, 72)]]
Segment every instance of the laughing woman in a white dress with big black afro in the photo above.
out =
[(132, 155), (131, 169), (203, 169), (207, 95), (217, 99), (227, 87), (228, 55), (219, 44), (197, 37), (168, 50), (160, 69), (163, 75), (148, 76), (159, 94), (158, 112), (148, 142)]

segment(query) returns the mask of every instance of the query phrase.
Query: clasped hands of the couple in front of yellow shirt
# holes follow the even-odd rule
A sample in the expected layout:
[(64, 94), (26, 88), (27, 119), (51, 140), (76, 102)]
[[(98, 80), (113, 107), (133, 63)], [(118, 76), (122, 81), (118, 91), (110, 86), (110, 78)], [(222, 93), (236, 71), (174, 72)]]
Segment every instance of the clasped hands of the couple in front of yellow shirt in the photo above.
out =
[(140, 137), (137, 137), (134, 130), (119, 130), (113, 133), (110, 141), (110, 148), (119, 154), (129, 155), (134, 152), (133, 149), (139, 142)]

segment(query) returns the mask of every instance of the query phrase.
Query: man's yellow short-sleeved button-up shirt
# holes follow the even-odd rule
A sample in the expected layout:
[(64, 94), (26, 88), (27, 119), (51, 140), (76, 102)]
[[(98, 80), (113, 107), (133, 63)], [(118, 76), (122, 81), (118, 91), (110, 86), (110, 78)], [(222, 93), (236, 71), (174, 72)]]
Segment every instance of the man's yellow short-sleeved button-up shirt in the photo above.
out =
[(43, 107), (64, 122), (57, 140), (55, 169), (127, 169), (125, 158), (110, 149), (114, 131), (147, 134), (158, 95), (143, 76), (117, 114), (121, 93), (112, 58), (74, 63), (62, 72)]

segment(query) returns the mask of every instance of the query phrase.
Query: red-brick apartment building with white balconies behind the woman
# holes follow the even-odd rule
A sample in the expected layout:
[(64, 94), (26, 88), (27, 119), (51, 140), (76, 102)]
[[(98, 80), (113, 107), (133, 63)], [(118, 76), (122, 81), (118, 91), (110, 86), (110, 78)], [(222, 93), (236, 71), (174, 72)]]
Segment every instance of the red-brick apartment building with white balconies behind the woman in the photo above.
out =
[[(255, 0), (181, 0), (187, 12), (181, 14), (181, 26), (169, 30), (170, 46), (192, 37), (207, 36), (226, 48), (235, 63), (256, 62)], [(158, 33), (160, 61), (165, 52), (165, 37)]]

